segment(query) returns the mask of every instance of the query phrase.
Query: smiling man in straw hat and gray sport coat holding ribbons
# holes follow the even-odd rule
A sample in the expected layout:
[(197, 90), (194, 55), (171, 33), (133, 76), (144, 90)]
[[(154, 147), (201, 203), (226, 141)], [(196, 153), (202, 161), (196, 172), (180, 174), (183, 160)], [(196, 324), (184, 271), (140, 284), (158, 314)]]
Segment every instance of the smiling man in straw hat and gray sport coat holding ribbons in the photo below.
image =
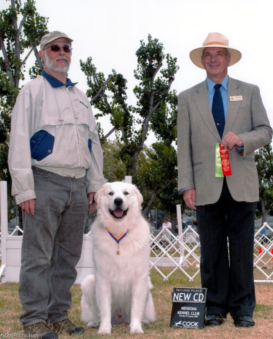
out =
[(235, 326), (250, 327), (259, 199), (254, 151), (271, 141), (272, 128), (259, 88), (227, 75), (241, 53), (225, 36), (209, 33), (190, 59), (207, 78), (178, 96), (178, 190), (196, 210), (205, 325), (221, 325), (230, 313)]

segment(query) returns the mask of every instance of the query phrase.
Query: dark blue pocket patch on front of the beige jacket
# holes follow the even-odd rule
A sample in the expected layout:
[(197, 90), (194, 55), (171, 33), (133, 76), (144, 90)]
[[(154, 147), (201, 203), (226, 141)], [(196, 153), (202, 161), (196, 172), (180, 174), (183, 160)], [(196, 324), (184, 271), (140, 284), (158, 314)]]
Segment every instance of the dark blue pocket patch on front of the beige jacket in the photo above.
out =
[(55, 138), (44, 129), (33, 134), (30, 138), (31, 158), (37, 161), (43, 160), (53, 151)]

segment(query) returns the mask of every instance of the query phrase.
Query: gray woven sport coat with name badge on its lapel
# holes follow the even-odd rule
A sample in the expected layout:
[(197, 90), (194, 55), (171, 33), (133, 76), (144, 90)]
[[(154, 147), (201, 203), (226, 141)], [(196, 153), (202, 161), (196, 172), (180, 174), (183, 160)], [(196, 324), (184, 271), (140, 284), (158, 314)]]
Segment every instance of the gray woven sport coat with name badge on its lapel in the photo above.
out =
[[(230, 96), (242, 96), (231, 101)], [(232, 175), (226, 176), (236, 201), (259, 200), (259, 184), (254, 151), (272, 139), (272, 128), (255, 85), (228, 77), (228, 103), (224, 135), (240, 136), (244, 150), (229, 150)], [(196, 205), (219, 200), (223, 178), (215, 177), (215, 144), (221, 143), (210, 109), (206, 80), (178, 96), (177, 160), (178, 190), (195, 188)]]

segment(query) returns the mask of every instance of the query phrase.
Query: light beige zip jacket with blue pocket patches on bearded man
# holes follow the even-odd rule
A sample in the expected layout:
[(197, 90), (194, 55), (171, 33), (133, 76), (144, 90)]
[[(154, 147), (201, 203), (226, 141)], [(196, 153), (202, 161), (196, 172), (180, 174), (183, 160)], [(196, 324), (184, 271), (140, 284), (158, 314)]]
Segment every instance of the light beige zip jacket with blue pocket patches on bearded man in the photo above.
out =
[[(33, 145), (38, 145), (36, 152)], [(8, 154), (17, 204), (36, 198), (33, 165), (71, 178), (87, 175), (87, 193), (104, 184), (103, 151), (91, 105), (76, 86), (54, 88), (40, 76), (21, 89), (12, 112)]]

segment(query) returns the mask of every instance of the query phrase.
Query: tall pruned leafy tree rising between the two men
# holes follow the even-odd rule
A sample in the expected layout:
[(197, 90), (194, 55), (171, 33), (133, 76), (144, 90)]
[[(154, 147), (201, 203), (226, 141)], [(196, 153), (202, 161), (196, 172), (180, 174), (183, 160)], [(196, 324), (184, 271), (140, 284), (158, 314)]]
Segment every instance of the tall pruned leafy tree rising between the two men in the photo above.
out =
[[(148, 36), (147, 43), (140, 41), (136, 51), (137, 67), (134, 76), (138, 81), (133, 92), (136, 105), (127, 104), (127, 80), (114, 69), (106, 79), (104, 73), (97, 72), (89, 57), (81, 62), (87, 76), (90, 103), (99, 110), (100, 140), (103, 143), (113, 132), (120, 137), (118, 157), (131, 175), (144, 198), (143, 214), (160, 202), (160, 193), (177, 179), (176, 117), (177, 95), (170, 91), (178, 70), (177, 59), (164, 54), (163, 44)], [(99, 117), (109, 116), (111, 130), (104, 134)], [(145, 147), (145, 140), (153, 131), (158, 142), (152, 148)], [(111, 178), (111, 181), (114, 178)], [(177, 188), (176, 188), (177, 190)], [(177, 196), (177, 193), (176, 193)], [(183, 204), (182, 197), (175, 199)], [(172, 208), (173, 198), (165, 205)]]

